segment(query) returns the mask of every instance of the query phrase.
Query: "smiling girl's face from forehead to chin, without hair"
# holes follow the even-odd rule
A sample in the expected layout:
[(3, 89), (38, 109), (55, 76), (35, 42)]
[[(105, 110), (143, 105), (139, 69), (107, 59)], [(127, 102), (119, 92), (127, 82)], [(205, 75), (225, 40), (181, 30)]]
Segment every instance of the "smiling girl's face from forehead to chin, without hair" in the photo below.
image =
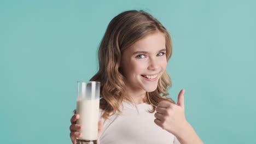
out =
[(165, 37), (161, 32), (148, 35), (123, 52), (121, 70), (126, 87), (134, 92), (153, 92), (166, 68)]

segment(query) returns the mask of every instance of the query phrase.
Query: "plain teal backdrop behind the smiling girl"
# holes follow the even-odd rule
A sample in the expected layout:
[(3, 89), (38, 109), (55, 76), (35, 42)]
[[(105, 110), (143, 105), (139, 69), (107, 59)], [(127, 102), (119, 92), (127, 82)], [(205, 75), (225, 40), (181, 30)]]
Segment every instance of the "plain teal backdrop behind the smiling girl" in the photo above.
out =
[(146, 10), (170, 32), (177, 101), (205, 143), (256, 143), (255, 1), (0, 1), (1, 143), (71, 143), (78, 80), (98, 69), (114, 16)]

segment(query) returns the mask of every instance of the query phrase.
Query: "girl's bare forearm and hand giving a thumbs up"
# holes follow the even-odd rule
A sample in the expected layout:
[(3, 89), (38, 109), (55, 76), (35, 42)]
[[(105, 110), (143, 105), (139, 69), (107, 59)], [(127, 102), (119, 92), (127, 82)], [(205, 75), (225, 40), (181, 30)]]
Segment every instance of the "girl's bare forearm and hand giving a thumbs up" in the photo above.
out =
[(182, 89), (178, 95), (178, 102), (161, 101), (156, 107), (155, 124), (177, 137), (181, 144), (201, 144), (200, 137), (185, 118), (184, 92)]

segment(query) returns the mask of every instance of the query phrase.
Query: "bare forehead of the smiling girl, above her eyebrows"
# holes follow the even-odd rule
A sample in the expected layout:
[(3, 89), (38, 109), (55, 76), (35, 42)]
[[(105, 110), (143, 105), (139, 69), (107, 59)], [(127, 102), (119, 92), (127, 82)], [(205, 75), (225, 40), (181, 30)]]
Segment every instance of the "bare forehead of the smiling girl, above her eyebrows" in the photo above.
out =
[(161, 32), (156, 32), (150, 35), (147, 35), (141, 40), (138, 40), (133, 44), (128, 51), (148, 51), (154, 52), (165, 49), (165, 35)]

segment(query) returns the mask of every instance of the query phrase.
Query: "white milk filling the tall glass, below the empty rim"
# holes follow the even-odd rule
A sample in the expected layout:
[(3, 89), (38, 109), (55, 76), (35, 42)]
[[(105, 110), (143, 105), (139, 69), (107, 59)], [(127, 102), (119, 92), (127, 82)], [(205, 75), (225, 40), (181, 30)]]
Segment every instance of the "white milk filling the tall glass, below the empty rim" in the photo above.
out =
[(100, 99), (96, 100), (77, 100), (77, 113), (80, 118), (78, 124), (83, 126), (79, 132), (82, 136), (78, 139), (97, 140), (98, 139), (98, 112)]

